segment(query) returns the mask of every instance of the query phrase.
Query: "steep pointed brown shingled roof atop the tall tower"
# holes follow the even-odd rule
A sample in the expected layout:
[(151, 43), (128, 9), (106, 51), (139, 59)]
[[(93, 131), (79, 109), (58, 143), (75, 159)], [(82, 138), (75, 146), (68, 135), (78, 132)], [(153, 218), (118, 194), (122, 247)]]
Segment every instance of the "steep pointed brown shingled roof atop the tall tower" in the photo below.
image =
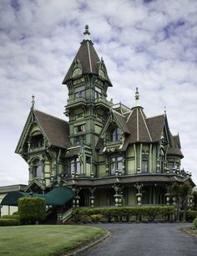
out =
[[(74, 57), (73, 63), (71, 64), (65, 78), (63, 79), (63, 84), (67, 84), (68, 80), (72, 79), (73, 67), (76, 61), (79, 61), (81, 65), (82, 74), (98, 75), (98, 69), (101, 61), (98, 58), (98, 54), (96, 53), (95, 49), (93, 48), (93, 42), (90, 40), (90, 38), (83, 39), (83, 42), (78, 49), (78, 53)], [(108, 82), (109, 86), (112, 86), (108, 74), (106, 74), (105, 79)]]

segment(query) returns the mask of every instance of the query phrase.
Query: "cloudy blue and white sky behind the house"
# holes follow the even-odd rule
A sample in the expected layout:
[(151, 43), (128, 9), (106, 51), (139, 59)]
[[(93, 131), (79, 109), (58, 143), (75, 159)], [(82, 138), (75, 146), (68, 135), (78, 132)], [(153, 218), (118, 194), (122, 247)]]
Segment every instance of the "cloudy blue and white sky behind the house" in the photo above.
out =
[(38, 110), (65, 119), (62, 81), (85, 24), (114, 85), (109, 99), (132, 107), (139, 87), (147, 116), (166, 107), (182, 167), (197, 183), (196, 0), (1, 0), (0, 186), (28, 183), (28, 166), (14, 150), (31, 96)]

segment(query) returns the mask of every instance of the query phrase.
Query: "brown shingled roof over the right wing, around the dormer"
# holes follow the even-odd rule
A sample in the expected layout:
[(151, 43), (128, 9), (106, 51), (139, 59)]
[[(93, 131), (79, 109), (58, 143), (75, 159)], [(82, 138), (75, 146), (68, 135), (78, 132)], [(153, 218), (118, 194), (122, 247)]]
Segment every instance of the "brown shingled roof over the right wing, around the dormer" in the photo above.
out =
[[(126, 115), (120, 115), (116, 111), (113, 111), (113, 113), (116, 119), (119, 120), (119, 123), (122, 125), (124, 132), (126, 133), (124, 145), (120, 151), (125, 151), (129, 144), (136, 142), (159, 142), (164, 129), (164, 124), (167, 125), (167, 130), (169, 130), (166, 115), (156, 115), (147, 118), (141, 106), (134, 107), (129, 115), (128, 113)], [(180, 151), (179, 136), (171, 135), (169, 140), (171, 147), (169, 148), (168, 155), (171, 154), (183, 157)], [(99, 154), (102, 154), (103, 149), (104, 141), (99, 139), (96, 150), (99, 151)]]

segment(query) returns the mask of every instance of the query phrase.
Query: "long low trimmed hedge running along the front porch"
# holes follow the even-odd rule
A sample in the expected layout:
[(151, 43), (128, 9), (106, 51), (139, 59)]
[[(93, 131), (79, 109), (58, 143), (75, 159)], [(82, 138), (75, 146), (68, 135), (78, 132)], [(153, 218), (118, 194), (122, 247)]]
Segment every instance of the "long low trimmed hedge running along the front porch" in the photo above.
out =
[(104, 207), (104, 208), (77, 208), (73, 210), (72, 219), (74, 222), (87, 222), (87, 219), (91, 215), (102, 215), (105, 221), (109, 223), (114, 220), (115, 222), (123, 221), (127, 222), (131, 217), (135, 217), (136, 220), (139, 218), (147, 218), (149, 222), (154, 221), (157, 216), (161, 216), (165, 221), (170, 219), (170, 216), (174, 214), (175, 207), (164, 206), (164, 207)]

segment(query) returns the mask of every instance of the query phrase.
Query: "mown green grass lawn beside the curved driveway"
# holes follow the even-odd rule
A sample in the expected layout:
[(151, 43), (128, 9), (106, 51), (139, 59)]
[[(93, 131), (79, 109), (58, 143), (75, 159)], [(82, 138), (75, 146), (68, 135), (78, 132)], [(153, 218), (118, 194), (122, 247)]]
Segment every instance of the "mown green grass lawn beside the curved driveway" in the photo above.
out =
[(61, 255), (104, 234), (101, 228), (77, 225), (0, 227), (0, 255)]

